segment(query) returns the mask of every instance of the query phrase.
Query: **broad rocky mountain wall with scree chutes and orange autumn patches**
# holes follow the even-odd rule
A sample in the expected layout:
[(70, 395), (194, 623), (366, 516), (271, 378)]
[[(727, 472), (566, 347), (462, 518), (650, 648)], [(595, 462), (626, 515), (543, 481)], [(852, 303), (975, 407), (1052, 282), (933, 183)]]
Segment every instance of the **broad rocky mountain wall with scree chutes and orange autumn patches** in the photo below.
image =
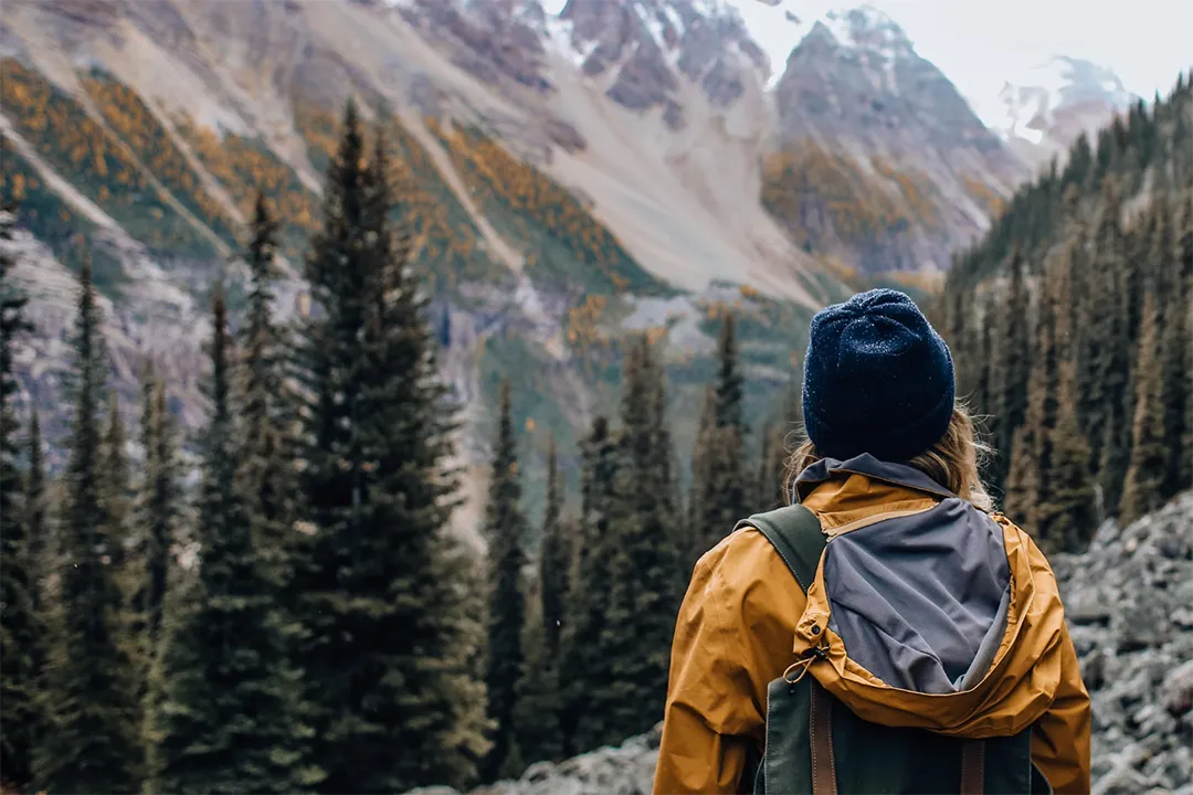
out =
[[(192, 427), (211, 285), (229, 282), (235, 310), (256, 187), (284, 221), (279, 309), (309, 310), (301, 262), (350, 95), (385, 128), (402, 175), (471, 464), (488, 454), (486, 406), (506, 373), (526, 386), (514, 411), (536, 429), (530, 468), (548, 429), (574, 449), (617, 398), (630, 330), (666, 340), (687, 449), (727, 310), (742, 316), (761, 417), (818, 306), (944, 267), (1015, 174), (948, 81), (869, 10), (798, 23), (760, 0), (0, 11), (0, 197), (20, 200), (19, 275), (38, 323), (23, 399), (51, 414), (84, 256), (124, 405), (153, 359)], [(774, 14), (791, 26), (781, 63), (759, 25)]]

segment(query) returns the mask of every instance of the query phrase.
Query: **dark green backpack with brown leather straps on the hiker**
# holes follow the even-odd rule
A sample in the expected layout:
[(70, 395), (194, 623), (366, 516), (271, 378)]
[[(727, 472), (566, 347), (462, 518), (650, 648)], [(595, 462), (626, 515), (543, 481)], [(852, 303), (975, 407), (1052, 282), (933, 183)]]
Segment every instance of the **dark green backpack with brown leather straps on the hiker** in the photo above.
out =
[[(802, 505), (738, 522), (774, 546), (801, 590), (816, 577), (827, 539)], [(814, 676), (767, 688), (766, 750), (754, 795), (1051, 795), (1032, 764), (1031, 729), (968, 740), (870, 723)]]

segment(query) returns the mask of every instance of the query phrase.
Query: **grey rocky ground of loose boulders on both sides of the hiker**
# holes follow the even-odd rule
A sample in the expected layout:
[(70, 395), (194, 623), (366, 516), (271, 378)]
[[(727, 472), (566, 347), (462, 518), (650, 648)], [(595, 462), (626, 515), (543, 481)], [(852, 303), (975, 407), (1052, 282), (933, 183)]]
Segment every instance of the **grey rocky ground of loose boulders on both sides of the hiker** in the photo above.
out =
[[(1193, 495), (1053, 566), (1094, 702), (1093, 795), (1193, 795)], [(647, 795), (657, 747), (659, 727), (471, 795)]]

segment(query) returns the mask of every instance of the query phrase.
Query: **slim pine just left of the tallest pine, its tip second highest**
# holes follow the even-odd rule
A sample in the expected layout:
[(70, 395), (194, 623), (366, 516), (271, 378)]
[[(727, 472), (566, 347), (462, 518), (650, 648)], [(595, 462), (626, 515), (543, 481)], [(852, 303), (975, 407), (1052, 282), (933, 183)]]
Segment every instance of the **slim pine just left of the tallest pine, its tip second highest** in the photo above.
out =
[(249, 243), (248, 316), (241, 361), (241, 471), (239, 487), (249, 496), (258, 554), (266, 573), (280, 582), (293, 484), (286, 458), (289, 420), (283, 380), (282, 333), (273, 319), (278, 223), (256, 194)]

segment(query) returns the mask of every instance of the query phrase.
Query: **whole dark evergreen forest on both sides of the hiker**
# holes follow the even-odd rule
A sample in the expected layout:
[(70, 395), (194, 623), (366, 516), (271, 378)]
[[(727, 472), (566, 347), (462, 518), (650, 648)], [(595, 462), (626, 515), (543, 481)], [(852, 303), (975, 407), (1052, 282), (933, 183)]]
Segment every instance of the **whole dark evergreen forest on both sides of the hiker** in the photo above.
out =
[[(984, 476), (1049, 552), (1193, 483), (1191, 98), (1182, 80), (1096, 145), (1078, 139), (958, 254), (929, 308), (995, 451)], [(690, 464), (663, 350), (635, 335), (616, 412), (575, 449), (552, 437), (533, 513), (506, 373), (474, 554), (450, 530), (460, 406), (391, 147), (351, 103), (336, 129), (321, 206), (288, 218), (266, 186), (247, 194), (249, 284), (235, 309), (210, 291), (210, 409), (192, 439), (149, 366), (124, 426), (101, 263), (81, 253), (70, 430), (51, 440), (68, 455), (49, 472), (38, 416), (14, 409), (29, 321), (0, 257), (0, 791), (391, 795), (619, 743), (662, 714), (696, 559), (784, 502), (798, 381), (750, 427), (742, 329), (722, 312)], [(508, 201), (486, 141), (437, 135), (481, 200)], [(561, 200), (528, 186), (527, 207)], [(0, 210), (0, 236), (17, 213)], [(314, 309), (283, 323), (274, 257), (296, 229)], [(574, 234), (552, 244), (600, 230)], [(598, 291), (642, 278), (616, 251), (595, 265)]]

